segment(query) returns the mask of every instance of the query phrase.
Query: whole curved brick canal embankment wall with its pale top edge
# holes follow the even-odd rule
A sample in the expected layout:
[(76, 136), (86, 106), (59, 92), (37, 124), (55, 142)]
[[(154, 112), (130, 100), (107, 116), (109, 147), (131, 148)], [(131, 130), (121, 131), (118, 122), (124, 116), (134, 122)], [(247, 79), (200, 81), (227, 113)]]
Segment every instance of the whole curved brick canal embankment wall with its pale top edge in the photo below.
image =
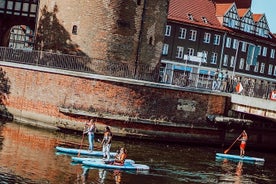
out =
[(227, 108), (227, 97), (160, 83), (50, 69), (36, 71), (39, 67), (30, 66), (2, 67), (11, 84), (8, 109), (17, 117), (53, 125), (84, 122), (94, 116), (111, 117), (109, 122), (117, 123), (204, 126), (208, 114), (223, 115)]

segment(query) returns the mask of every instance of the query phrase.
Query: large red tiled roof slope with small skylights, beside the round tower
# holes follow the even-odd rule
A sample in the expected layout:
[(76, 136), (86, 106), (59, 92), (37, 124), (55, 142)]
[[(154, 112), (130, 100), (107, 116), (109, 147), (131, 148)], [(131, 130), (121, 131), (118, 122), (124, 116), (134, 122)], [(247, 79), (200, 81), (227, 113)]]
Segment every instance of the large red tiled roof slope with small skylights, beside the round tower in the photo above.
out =
[[(189, 20), (191, 14), (194, 20)], [(205, 17), (208, 23), (204, 23)], [(208, 27), (222, 27), (216, 17), (215, 4), (210, 0), (170, 0), (168, 19)]]

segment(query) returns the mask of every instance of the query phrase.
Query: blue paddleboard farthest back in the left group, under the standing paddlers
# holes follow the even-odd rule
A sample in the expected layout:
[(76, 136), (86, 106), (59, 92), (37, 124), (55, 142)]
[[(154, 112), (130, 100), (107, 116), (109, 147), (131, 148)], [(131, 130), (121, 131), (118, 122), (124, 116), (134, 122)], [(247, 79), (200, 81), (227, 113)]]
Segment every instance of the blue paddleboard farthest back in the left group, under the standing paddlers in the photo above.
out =
[[(58, 152), (62, 153), (68, 153), (68, 154), (73, 154), (73, 155), (89, 155), (89, 156), (103, 156), (102, 151), (89, 151), (89, 150), (84, 150), (84, 149), (76, 149), (76, 148), (64, 148), (57, 146), (56, 150)], [(116, 152), (110, 152), (110, 156), (114, 157), (116, 155)]]

